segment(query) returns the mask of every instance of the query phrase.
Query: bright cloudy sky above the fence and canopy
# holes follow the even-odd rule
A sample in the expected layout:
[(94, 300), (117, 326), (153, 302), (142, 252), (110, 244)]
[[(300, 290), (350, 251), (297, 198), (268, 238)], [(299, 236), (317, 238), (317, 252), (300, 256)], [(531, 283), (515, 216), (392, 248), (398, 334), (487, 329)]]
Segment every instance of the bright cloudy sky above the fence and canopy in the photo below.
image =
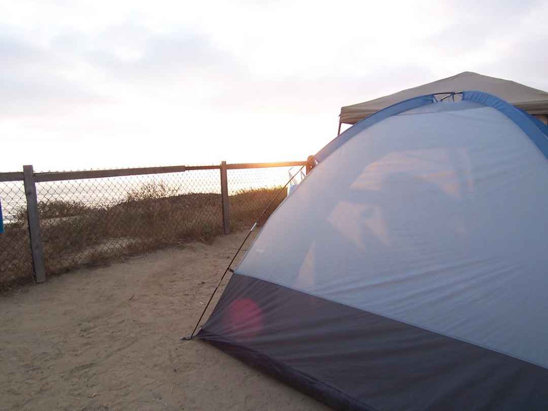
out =
[(548, 90), (546, 1), (0, 0), (0, 171), (296, 161), (463, 71)]

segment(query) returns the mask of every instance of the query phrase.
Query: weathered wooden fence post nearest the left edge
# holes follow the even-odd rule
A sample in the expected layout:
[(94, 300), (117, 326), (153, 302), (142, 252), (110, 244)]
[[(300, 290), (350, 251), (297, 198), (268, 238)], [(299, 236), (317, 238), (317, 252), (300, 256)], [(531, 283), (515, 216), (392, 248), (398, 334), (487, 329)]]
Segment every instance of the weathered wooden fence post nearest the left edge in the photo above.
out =
[(40, 220), (38, 218), (38, 199), (32, 165), (23, 166), (25, 196), (27, 197), (28, 235), (31, 240), (32, 266), (37, 283), (45, 281), (44, 253), (40, 235)]

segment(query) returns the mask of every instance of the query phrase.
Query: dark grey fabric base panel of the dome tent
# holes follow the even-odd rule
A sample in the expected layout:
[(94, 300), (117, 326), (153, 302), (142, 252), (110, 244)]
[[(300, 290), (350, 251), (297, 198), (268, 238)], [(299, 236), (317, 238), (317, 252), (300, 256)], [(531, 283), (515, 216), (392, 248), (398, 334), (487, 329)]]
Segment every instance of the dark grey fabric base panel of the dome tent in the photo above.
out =
[(548, 410), (548, 370), (235, 274), (198, 333), (336, 409)]

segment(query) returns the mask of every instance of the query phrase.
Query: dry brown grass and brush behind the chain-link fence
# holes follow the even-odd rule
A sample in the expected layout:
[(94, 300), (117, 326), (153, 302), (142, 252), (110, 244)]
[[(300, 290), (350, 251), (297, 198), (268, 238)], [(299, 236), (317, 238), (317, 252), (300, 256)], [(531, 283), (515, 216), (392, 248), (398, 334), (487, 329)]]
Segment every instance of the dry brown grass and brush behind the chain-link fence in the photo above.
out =
[[(232, 231), (250, 227), (280, 187), (243, 190), (229, 197)], [(259, 225), (285, 198), (276, 199)], [(92, 207), (81, 202), (39, 202), (42, 243), (49, 275), (81, 266), (100, 266), (189, 241), (210, 242), (222, 234), (221, 196), (178, 194), (163, 182), (130, 190), (124, 201)], [(0, 291), (31, 281), (26, 212), (0, 235), (10, 261), (0, 261)], [(15, 247), (19, 244), (18, 247)]]

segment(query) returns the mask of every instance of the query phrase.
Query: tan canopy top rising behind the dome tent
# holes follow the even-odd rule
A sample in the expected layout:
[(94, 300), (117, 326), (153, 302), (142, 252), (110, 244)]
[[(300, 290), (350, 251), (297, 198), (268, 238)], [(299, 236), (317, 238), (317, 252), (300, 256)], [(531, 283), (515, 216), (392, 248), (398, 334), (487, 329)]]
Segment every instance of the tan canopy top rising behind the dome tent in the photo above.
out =
[(542, 120), (546, 121), (548, 93), (510, 80), (465, 71), (453, 77), (442, 78), (432, 83), (402, 90), (375, 100), (343, 107), (341, 108), (340, 123), (354, 124), (385, 107), (416, 96), (443, 92), (462, 92), (464, 90), (479, 90), (493, 94), (520, 107), (529, 114), (544, 117)]

